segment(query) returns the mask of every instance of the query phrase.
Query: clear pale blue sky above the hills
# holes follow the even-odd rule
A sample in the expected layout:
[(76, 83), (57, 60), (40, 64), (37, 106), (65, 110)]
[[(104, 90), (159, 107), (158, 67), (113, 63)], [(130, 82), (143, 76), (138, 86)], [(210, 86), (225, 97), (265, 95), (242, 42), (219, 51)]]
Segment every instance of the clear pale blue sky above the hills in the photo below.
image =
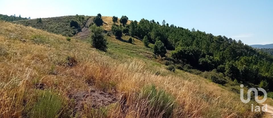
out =
[(245, 44), (273, 43), (273, 0), (0, 0), (0, 14), (31, 18), (65, 15), (126, 15), (214, 35), (242, 40)]

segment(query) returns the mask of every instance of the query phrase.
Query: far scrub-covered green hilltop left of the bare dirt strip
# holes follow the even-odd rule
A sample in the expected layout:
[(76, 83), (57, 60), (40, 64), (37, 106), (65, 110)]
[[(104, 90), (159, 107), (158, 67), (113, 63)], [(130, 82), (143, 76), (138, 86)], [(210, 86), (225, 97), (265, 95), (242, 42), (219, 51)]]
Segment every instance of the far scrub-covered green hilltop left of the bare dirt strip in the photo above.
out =
[[(61, 34), (63, 36), (74, 36), (81, 31), (84, 24), (91, 16), (75, 15), (75, 16), (60, 16), (52, 18), (41, 18), (41, 22), (38, 22), (38, 18), (31, 20), (14, 21), (14, 23), (22, 24), (25, 26), (31, 26), (36, 29), (45, 30), (47, 32)], [(80, 28), (73, 28), (70, 26), (70, 21), (75, 20), (80, 25)]]

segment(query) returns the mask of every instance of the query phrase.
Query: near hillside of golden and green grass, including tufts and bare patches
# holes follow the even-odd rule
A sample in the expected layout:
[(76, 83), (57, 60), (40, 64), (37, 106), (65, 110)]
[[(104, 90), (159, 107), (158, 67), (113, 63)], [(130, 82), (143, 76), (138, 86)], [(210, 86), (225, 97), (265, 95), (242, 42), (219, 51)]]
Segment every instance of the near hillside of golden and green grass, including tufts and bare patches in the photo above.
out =
[(0, 117), (262, 117), (224, 86), (167, 71), (140, 40), (109, 36), (101, 52), (86, 40), (0, 25)]

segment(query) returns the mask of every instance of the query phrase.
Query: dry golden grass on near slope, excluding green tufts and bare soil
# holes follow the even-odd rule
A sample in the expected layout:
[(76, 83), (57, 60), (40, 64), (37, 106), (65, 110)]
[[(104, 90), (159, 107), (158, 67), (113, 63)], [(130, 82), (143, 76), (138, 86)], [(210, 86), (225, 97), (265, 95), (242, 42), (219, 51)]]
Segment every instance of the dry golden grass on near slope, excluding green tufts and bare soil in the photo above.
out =
[[(147, 68), (141, 59), (114, 60), (74, 38), (68, 42), (60, 35), (2, 21), (0, 26), (0, 46), (6, 50), (5, 55), (0, 55), (0, 117), (27, 115), (25, 106), (33, 104), (29, 98), (35, 97), (31, 91), (37, 89), (36, 83), (44, 84), (43, 89), (54, 90), (70, 104), (73, 102), (68, 94), (74, 90), (88, 90), (88, 86), (118, 97), (117, 103), (102, 106), (105, 107), (102, 109), (85, 104), (82, 110), (76, 111), (78, 117), (161, 118), (164, 110), (153, 110), (156, 108), (150, 106), (149, 99), (140, 96), (142, 88), (151, 84), (174, 97), (175, 105), (170, 116), (173, 118), (251, 118), (262, 115), (251, 112), (250, 104), (240, 102), (238, 94), (200, 76), (185, 72), (156, 75), (156, 71), (166, 70)], [(34, 36), (44, 36), (47, 42), (41, 43), (33, 39)], [(67, 66), (67, 56), (74, 57), (78, 63)], [(75, 112), (67, 114), (75, 116)]]

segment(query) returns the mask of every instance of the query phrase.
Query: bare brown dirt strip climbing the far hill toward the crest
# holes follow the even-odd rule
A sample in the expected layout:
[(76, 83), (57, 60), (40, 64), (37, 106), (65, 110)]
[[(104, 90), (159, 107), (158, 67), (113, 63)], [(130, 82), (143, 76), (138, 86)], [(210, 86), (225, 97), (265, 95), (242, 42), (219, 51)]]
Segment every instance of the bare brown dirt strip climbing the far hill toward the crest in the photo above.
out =
[(74, 37), (78, 39), (86, 39), (88, 35), (90, 34), (90, 30), (88, 29), (88, 26), (93, 20), (93, 17), (89, 18), (88, 21), (84, 24), (84, 27), (82, 28), (82, 31), (76, 34)]

